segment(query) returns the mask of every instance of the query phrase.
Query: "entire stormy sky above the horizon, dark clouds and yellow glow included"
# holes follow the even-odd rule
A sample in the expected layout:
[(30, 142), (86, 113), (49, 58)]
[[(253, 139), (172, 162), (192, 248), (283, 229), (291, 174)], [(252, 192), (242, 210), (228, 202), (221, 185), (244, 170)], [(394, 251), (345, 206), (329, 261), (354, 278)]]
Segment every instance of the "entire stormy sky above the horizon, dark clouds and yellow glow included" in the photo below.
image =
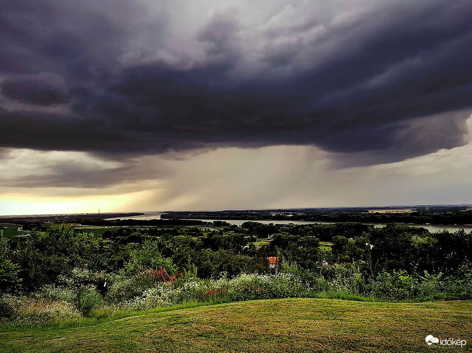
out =
[(0, 215), (472, 204), (469, 0), (2, 0)]

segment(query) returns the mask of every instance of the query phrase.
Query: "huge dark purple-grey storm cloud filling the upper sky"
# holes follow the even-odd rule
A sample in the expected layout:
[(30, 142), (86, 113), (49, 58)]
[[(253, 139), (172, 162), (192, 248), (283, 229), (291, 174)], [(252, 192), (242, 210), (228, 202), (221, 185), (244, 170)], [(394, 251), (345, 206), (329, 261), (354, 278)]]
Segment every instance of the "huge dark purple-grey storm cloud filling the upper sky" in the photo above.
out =
[(229, 9), (190, 30), (164, 3), (107, 4), (2, 2), (2, 146), (120, 158), (312, 144), (380, 163), (465, 143), (469, 1), (280, 4), (249, 24), (251, 9)]

